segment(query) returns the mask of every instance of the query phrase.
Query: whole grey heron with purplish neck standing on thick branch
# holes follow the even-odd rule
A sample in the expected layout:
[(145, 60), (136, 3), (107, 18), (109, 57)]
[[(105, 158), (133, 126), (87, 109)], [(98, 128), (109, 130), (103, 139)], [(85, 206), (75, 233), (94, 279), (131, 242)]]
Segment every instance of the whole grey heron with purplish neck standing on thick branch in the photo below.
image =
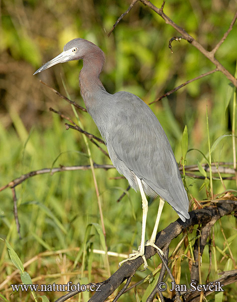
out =
[[(108, 93), (99, 77), (105, 56), (92, 42), (76, 38), (65, 44), (63, 52), (42, 65), (34, 74), (55, 64), (83, 60), (79, 75), (80, 92), (86, 109), (103, 137), (116, 170), (142, 197), (142, 238), (138, 251), (125, 261), (142, 257), (147, 268), (145, 246), (156, 246), (156, 235), (165, 200), (182, 221), (188, 219), (189, 200), (169, 140), (150, 107), (129, 92)], [(160, 197), (150, 240), (145, 242), (148, 201), (146, 195)]]

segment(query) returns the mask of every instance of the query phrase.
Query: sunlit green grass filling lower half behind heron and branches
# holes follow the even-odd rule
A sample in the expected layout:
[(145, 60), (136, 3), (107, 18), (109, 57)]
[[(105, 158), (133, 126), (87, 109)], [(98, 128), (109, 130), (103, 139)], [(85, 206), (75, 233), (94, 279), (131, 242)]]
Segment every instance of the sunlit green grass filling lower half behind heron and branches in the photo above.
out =
[[(218, 75), (215, 75), (214, 80), (216, 82), (219, 81)], [(221, 95), (222, 97), (224, 96), (226, 89), (226, 83), (217, 88), (220, 98)], [(63, 101), (60, 100), (61, 103)], [(203, 104), (205, 103), (207, 101), (204, 100)], [(226, 123), (223, 122), (225, 116), (223, 103), (214, 100), (211, 106), (208, 104), (207, 107), (210, 147), (220, 135), (229, 133)], [(205, 159), (201, 153), (205, 154), (209, 159), (204, 108), (200, 108), (204, 112), (203, 116), (198, 112), (194, 112), (191, 115), (192, 118), (189, 116), (191, 109), (187, 108), (185, 123), (188, 129), (188, 148), (196, 148), (201, 151), (189, 150), (186, 155), (187, 165), (195, 164), (197, 161), (205, 163)], [(153, 106), (153, 110), (168, 134), (172, 147), (175, 150), (177, 161), (181, 160), (182, 126), (176, 121), (172, 111), (169, 109), (167, 100), (163, 101), (163, 108)], [(15, 129), (6, 130), (3, 126), (0, 126), (0, 138), (2, 142), (0, 145), (1, 186), (32, 170), (53, 168), (59, 165), (89, 165), (87, 148), (82, 135), (72, 129), (65, 130), (64, 121), (55, 114), (47, 114), (52, 115), (52, 118), (46, 128), (34, 126), (30, 131), (27, 131), (16, 113), (13, 117)], [(79, 114), (84, 128), (99, 135), (91, 118), (85, 113), (82, 115), (81, 113)], [(71, 116), (73, 116), (73, 113)], [(195, 120), (196, 125), (194, 125), (193, 120)], [(197, 136), (201, 137), (199, 141), (197, 141)], [(228, 162), (232, 160), (231, 141), (231, 136), (226, 136), (219, 141), (211, 155), (212, 161), (214, 160), (218, 164), (219, 161)], [(95, 163), (110, 163), (109, 159), (105, 158), (96, 146), (90, 142), (89, 148), (91, 150), (91, 158)], [(116, 199), (124, 192), (128, 183), (125, 179), (112, 179), (116, 176), (119, 175), (115, 169), (107, 172), (95, 170), (95, 177), (102, 200), (107, 249), (108, 251), (128, 254), (140, 244), (141, 197), (139, 193), (130, 190), (126, 197), (120, 203), (117, 203)], [(186, 177), (186, 184), (191, 195), (197, 200), (200, 201), (206, 198), (203, 180)], [(224, 181), (224, 184), (226, 189), (234, 188), (233, 181)], [(212, 186), (214, 195), (224, 191), (220, 181), (213, 180)], [(202, 189), (200, 190), (201, 187)], [(208, 184), (206, 185), (206, 189), (209, 190)], [(2, 200), (0, 206), (0, 237), (6, 238), (11, 243), (23, 263), (31, 261), (36, 257), (25, 268), (30, 274), (33, 283), (53, 284), (55, 282), (56, 284), (66, 284), (70, 280), (76, 284), (77, 282), (99, 282), (108, 277), (107, 267), (104, 265), (104, 256), (89, 252), (89, 248), (104, 250), (103, 240), (101, 240), (101, 230), (98, 231), (99, 229), (96, 229), (96, 225), (101, 225), (101, 221), (94, 181), (90, 170), (35, 176), (17, 186), (16, 193), (21, 236), (23, 239), (19, 240), (17, 233), (10, 189), (6, 189), (0, 193)], [(149, 206), (147, 238), (152, 232), (157, 208), (157, 201), (154, 201)], [(171, 210), (171, 207), (166, 203), (160, 229), (164, 229), (169, 221), (174, 221), (177, 218), (178, 216), (175, 211)], [(235, 218), (231, 216), (223, 217), (221, 225), (231, 253), (236, 255), (237, 247), (234, 244), (237, 236)], [(196, 237), (196, 228), (197, 226), (189, 234), (189, 240)], [(233, 263), (229, 260), (227, 243), (221, 233), (218, 222), (213, 226), (213, 236), (215, 247), (212, 247), (213, 266), (211, 268), (210, 280), (218, 278), (217, 273), (226, 269), (226, 267), (233, 269)], [(172, 253), (181, 239), (182, 235), (172, 241), (170, 253)], [(194, 240), (191, 241), (191, 245), (193, 243)], [(178, 255), (173, 258), (173, 273), (180, 284), (186, 284), (189, 280), (186, 253), (187, 250), (185, 251), (184, 246), (182, 246), (178, 251)], [(0, 255), (0, 283), (2, 283), (16, 268), (11, 263), (4, 241), (0, 242)], [(191, 257), (190, 253), (187, 255)], [(118, 262), (121, 260), (122, 258), (109, 256), (111, 272), (117, 269)], [(180, 260), (181, 262), (179, 262)], [(149, 260), (148, 264), (149, 269), (153, 271), (159, 264), (158, 257)], [(181, 275), (178, 273), (180, 265)], [(202, 257), (202, 281), (206, 278), (208, 268), (209, 255), (208, 246), (206, 246)], [(147, 271), (138, 271), (133, 278), (133, 282), (145, 278), (147, 274)], [(150, 281), (152, 280), (153, 277), (151, 277)], [(18, 272), (2, 288), (1, 293), (9, 301), (19, 300), (19, 293), (12, 293), (10, 287), (10, 284), (19, 282), (21, 281), (19, 280)], [(147, 295), (147, 285), (148, 283), (145, 282), (137, 287), (137, 295), (141, 299), (144, 295), (143, 300)], [(148, 291), (150, 290), (149, 288), (147, 289)], [(236, 293), (234, 285), (228, 285), (228, 290), (224, 295), (228, 297), (228, 301), (231, 301), (231, 296), (234, 296), (234, 293)], [(22, 294), (25, 301), (32, 299), (29, 293)], [(41, 294), (46, 294), (49, 299), (56, 299), (62, 293), (47, 292)], [(169, 291), (166, 294), (169, 294)], [(134, 295), (134, 290), (131, 290), (121, 300), (129, 301), (135, 299)], [(211, 296), (214, 298), (214, 294)], [(83, 298), (86, 300), (87, 297), (84, 296)], [(74, 300), (77, 300), (77, 297)]]

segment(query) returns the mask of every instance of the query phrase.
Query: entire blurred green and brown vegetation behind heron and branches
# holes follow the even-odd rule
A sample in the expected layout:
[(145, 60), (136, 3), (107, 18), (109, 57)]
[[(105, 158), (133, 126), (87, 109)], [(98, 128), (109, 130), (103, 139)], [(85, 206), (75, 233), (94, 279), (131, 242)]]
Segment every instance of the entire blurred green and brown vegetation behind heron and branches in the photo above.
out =
[[(158, 0), (153, 3), (158, 7), (162, 4)], [(172, 54), (168, 41), (177, 32), (140, 3), (108, 38), (107, 33), (129, 4), (127, 0), (1, 2), (0, 186), (32, 170), (60, 165), (89, 165), (82, 135), (72, 129), (66, 131), (64, 121), (48, 110), (53, 107), (74, 118), (72, 108), (39, 82), (41, 79), (66, 95), (63, 87), (65, 81), (70, 98), (84, 106), (78, 86), (82, 62), (56, 65), (37, 76), (32, 75), (43, 63), (60, 53), (69, 40), (85, 38), (104, 51), (106, 62), (100, 79), (108, 92), (129, 91), (147, 104), (186, 80), (214, 68), (186, 41), (173, 42)], [(169, 0), (164, 9), (174, 22), (209, 50), (228, 29), (235, 10), (234, 0)], [(216, 53), (217, 59), (232, 74), (236, 70), (236, 36), (234, 26)], [(192, 150), (187, 153), (186, 165), (196, 165), (197, 162), (206, 163), (203, 154), (208, 155), (206, 109), (210, 143), (213, 144), (221, 135), (230, 134), (232, 106), (233, 88), (223, 74), (216, 72), (151, 105), (151, 108), (164, 127), (178, 162), (182, 157), (182, 134), (187, 125), (188, 147)], [(86, 131), (99, 136), (90, 116), (81, 112), (79, 116)], [(89, 144), (89, 148), (95, 163), (110, 164), (96, 146)], [(231, 136), (218, 140), (212, 161), (217, 166), (220, 162), (233, 162)], [(114, 179), (120, 176), (114, 169), (96, 170), (95, 175), (102, 199), (107, 248), (128, 254), (140, 244), (140, 194), (130, 190), (117, 203), (117, 198), (128, 186), (127, 181)], [(207, 180), (204, 183), (203, 179), (186, 178), (186, 183), (192, 202), (194, 199), (200, 202), (210, 198)], [(236, 189), (235, 181), (213, 180), (215, 197), (228, 189)], [(109, 269), (111, 272), (116, 270), (123, 258), (109, 257), (108, 269), (103, 256), (89, 252), (89, 248), (103, 249), (98, 226), (101, 221), (90, 170), (36, 176), (18, 186), (16, 193), (22, 239), (17, 233), (10, 189), (0, 193), (0, 237), (11, 243), (23, 263), (30, 261), (26, 270), (34, 283), (66, 284), (69, 280), (74, 284), (99, 282), (108, 277)], [(150, 204), (148, 237), (153, 229), (157, 208), (157, 201)], [(195, 203), (192, 208), (196, 208)], [(160, 228), (165, 228), (175, 219), (177, 214), (166, 204)], [(230, 257), (232, 253), (236, 259), (235, 222), (233, 216), (223, 217), (221, 223), (213, 226), (210, 280), (218, 278), (219, 271), (236, 268)], [(85, 236), (91, 223), (95, 224), (89, 235)], [(194, 233), (190, 233), (189, 239), (192, 240), (194, 236)], [(181, 238), (172, 242), (170, 254)], [(82, 247), (84, 253), (80, 253)], [(173, 259), (173, 273), (177, 282), (189, 284), (188, 258), (185, 255), (191, 257), (191, 254), (184, 249)], [(14, 273), (15, 267), (4, 241), (0, 242), (0, 251), (1, 297), (9, 301), (32, 300), (30, 293), (12, 292), (10, 284), (20, 283), (20, 275), (18, 271)], [(203, 280), (209, 267), (208, 257), (206, 247), (201, 268)], [(159, 263), (158, 257), (149, 260), (150, 272)], [(146, 275), (148, 271), (138, 271), (133, 282)], [(137, 291), (131, 290), (121, 301), (135, 300), (135, 295), (144, 298), (147, 286), (148, 282), (140, 284)], [(62, 294), (47, 292), (52, 300)], [(228, 285), (224, 294), (212, 294), (211, 297), (216, 301), (233, 301), (236, 294), (236, 287)], [(88, 292), (84, 293), (81, 299), (86, 301), (88, 295)], [(166, 295), (170, 296), (171, 293), (167, 291)], [(74, 300), (77, 299), (74, 297)]]

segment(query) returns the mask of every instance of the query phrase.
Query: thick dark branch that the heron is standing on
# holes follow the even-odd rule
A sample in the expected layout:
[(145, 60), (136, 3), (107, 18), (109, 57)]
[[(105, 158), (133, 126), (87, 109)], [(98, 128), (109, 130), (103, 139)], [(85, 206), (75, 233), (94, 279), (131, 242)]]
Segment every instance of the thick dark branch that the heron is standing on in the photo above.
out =
[[(184, 229), (189, 228), (195, 224), (207, 224), (211, 223), (211, 220), (214, 217), (214, 220), (219, 219), (224, 215), (228, 215), (231, 212), (237, 212), (237, 202), (235, 200), (219, 200), (216, 205), (206, 206), (202, 209), (191, 211), (190, 219), (186, 222), (182, 222), (179, 218), (175, 222), (172, 222), (167, 226), (166, 229), (159, 232), (156, 237), (156, 245), (159, 248), (169, 246), (170, 242), (181, 234)], [(156, 250), (148, 246), (145, 248), (145, 257), (146, 259), (151, 258), (156, 254)], [(94, 295), (89, 299), (89, 302), (102, 302), (107, 297), (113, 293), (113, 291), (120, 286), (126, 279), (130, 278), (135, 274), (137, 269), (143, 264), (143, 259), (141, 257), (125, 262), (116, 272), (112, 274), (107, 280), (101, 283), (100, 291), (94, 293)], [(232, 276), (234, 278), (236, 275)], [(233, 279), (231, 279), (233, 280)], [(71, 296), (75, 292), (70, 292)], [(198, 292), (200, 294), (200, 292)], [(65, 299), (58, 299), (56, 302), (63, 302)]]

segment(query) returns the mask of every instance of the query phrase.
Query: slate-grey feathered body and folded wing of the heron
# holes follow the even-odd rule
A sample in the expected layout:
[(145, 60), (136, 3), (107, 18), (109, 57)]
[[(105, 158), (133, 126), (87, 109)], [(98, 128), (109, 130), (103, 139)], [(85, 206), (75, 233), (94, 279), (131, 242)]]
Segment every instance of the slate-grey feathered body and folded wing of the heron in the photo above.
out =
[(130, 185), (138, 189), (136, 175), (147, 195), (161, 196), (183, 221), (189, 218), (189, 201), (177, 162), (152, 110), (139, 97), (118, 92), (104, 95), (95, 114), (89, 113), (106, 141), (114, 167)]

